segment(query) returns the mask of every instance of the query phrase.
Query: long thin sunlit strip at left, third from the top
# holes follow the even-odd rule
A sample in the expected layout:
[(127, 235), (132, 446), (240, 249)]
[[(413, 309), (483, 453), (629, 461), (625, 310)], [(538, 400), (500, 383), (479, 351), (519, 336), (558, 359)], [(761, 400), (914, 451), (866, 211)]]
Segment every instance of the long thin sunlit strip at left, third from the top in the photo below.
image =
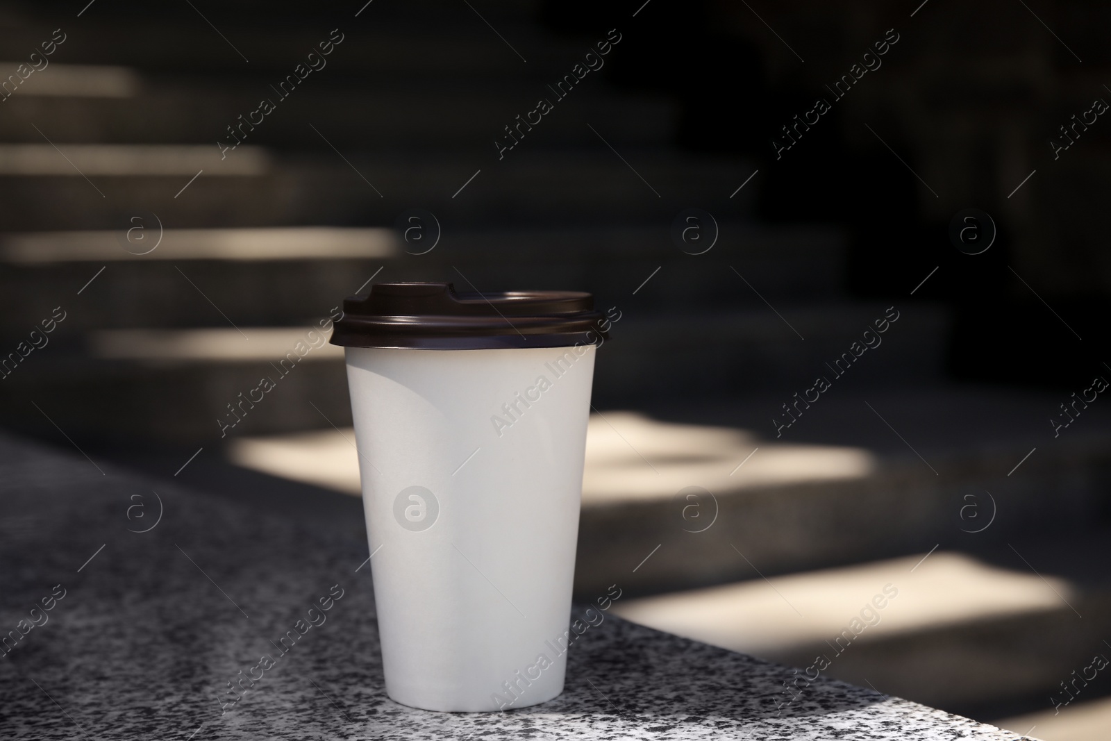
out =
[[(127, 223), (122, 221), (122, 223)], [(274, 229), (167, 229), (140, 222), (142, 243), (123, 249), (127, 228), (0, 236), (0, 260), (18, 263), (102, 260), (338, 260), (383, 259), (401, 253), (391, 229), (281, 227)], [(140, 232), (134, 232), (139, 234)], [(151, 240), (147, 242), (146, 240)], [(146, 254), (136, 254), (158, 244)]]

